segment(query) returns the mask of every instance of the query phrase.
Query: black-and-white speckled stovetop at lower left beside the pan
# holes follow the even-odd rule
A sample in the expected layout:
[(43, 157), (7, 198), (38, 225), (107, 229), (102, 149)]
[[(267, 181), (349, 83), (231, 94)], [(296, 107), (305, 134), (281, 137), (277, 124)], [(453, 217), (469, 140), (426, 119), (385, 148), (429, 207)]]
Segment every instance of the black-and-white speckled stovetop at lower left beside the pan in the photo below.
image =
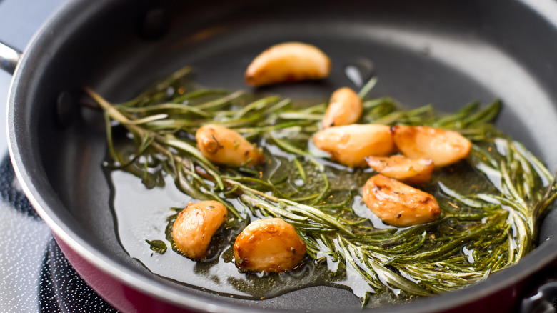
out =
[(11, 162), (0, 163), (0, 311), (116, 312), (71, 267), (18, 189)]

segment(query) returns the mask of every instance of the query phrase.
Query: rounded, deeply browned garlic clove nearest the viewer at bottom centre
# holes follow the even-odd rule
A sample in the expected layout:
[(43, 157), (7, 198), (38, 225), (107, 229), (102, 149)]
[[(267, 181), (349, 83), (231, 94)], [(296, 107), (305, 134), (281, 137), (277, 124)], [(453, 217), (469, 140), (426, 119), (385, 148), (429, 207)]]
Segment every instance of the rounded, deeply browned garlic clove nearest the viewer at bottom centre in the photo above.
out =
[(284, 272), (298, 265), (306, 243), (282, 219), (251, 222), (234, 243), (236, 266), (254, 272)]

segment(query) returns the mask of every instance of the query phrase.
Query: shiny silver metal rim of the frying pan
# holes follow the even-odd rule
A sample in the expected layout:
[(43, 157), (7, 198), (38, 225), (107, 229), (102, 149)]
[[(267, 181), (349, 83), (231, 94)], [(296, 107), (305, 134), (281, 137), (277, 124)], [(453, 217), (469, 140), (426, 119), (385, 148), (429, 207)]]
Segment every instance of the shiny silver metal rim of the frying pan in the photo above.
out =
[[(518, 1), (523, 2), (523, 4), (529, 6), (533, 11), (537, 11), (541, 7), (534, 7), (533, 3), (535, 1)], [(226, 302), (207, 303), (203, 301), (203, 298), (199, 298), (194, 294), (180, 292), (176, 289), (168, 289), (168, 287), (164, 286), (164, 284), (151, 281), (148, 277), (134, 275), (135, 272), (132, 269), (114, 262), (113, 259), (102, 254), (93, 246), (91, 246), (91, 244), (89, 244), (84, 238), (79, 237), (68, 225), (61, 222), (58, 214), (51, 211), (50, 207), (52, 205), (63, 204), (61, 204), (61, 202), (59, 201), (57, 201), (57, 203), (54, 203), (51, 200), (47, 199), (48, 197), (45, 197), (47, 196), (45, 192), (54, 193), (54, 191), (51, 190), (49, 186), (43, 187), (48, 190), (37, 189), (36, 183), (39, 182), (39, 178), (31, 175), (31, 173), (26, 170), (29, 167), (39, 167), (40, 164), (28, 164), (33, 160), (33, 157), (24, 157), (21, 154), (21, 150), (23, 149), (20, 148), (25, 145), (30, 145), (29, 142), (25, 142), (26, 134), (20, 134), (20, 131), (18, 131), (18, 129), (21, 129), (21, 127), (18, 126), (19, 123), (24, 123), (24, 121), (21, 121), (21, 114), (20, 116), (16, 116), (16, 110), (14, 109), (16, 103), (18, 102), (16, 101), (18, 92), (21, 92), (21, 90), (19, 90), (18, 88), (18, 82), (24, 79), (25, 76), (29, 76), (29, 74), (32, 72), (32, 69), (29, 68), (29, 66), (27, 66), (26, 64), (29, 63), (29, 60), (35, 57), (34, 51), (36, 51), (38, 47), (43, 44), (42, 41), (44, 41), (44, 35), (49, 34), (49, 32), (53, 31), (57, 27), (62, 26), (60, 25), (61, 16), (75, 14), (77, 11), (81, 10), (94, 10), (96, 7), (106, 5), (106, 3), (109, 2), (110, 0), (104, 0), (101, 1), (101, 3), (99, 3), (99, 1), (94, 1), (93, 3), (91, 1), (76, 0), (70, 1), (64, 6), (61, 6), (61, 8), (59, 8), (59, 10), (57, 10), (55, 14), (53, 14), (53, 16), (51, 16), (46, 21), (46, 23), (41, 26), (39, 31), (37, 31), (36, 34), (33, 36), (24, 51), (21, 61), (16, 67), (14, 78), (11, 82), (9, 91), (6, 127), (8, 134), (9, 154), (11, 162), (14, 166), (16, 177), (21, 184), (21, 188), (24, 190), (24, 193), (28, 197), (33, 207), (36, 209), (36, 212), (39, 214), (41, 219), (46, 222), (46, 224), (49, 226), (51, 231), (56, 234), (56, 236), (61, 238), (64, 243), (68, 244), (68, 246), (74, 252), (79, 254), (80, 257), (94, 265), (96, 269), (100, 269), (102, 272), (108, 274), (110, 277), (116, 279), (122, 284), (125, 284), (132, 289), (136, 289), (139, 292), (148, 294), (149, 296), (160, 299), (164, 302), (175, 304), (179, 307), (184, 307), (184, 309), (204, 310), (206, 312), (261, 312), (263, 309), (245, 307), (239, 304), (231, 304)], [(557, 12), (556, 2), (546, 0), (546, 4), (547, 6), (553, 6), (553, 9), (555, 9), (554, 11)], [(545, 18), (546, 14), (540, 14), (540, 16)], [(555, 24), (555, 22), (551, 21), (551, 24)], [(553, 251), (553, 254), (546, 253), (551, 251)], [(458, 307), (461, 304), (466, 304), (478, 299), (478, 294), (494, 294), (505, 289), (513, 282), (518, 282), (522, 279), (526, 279), (533, 272), (536, 272), (539, 269), (545, 267), (547, 264), (551, 263), (556, 258), (556, 256), (557, 240), (553, 239), (548, 242), (544, 242), (543, 244), (536, 247), (536, 249), (534, 249), (522, 260), (522, 262), (518, 262), (518, 264), (514, 265), (513, 267), (505, 269), (502, 274), (490, 277), (490, 279), (487, 279), (486, 282), (475, 284), (458, 292), (441, 294), (432, 298), (418, 299), (411, 302), (411, 304), (402, 304), (393, 307), (381, 307), (376, 310), (377, 312), (401, 312), (406, 311), (406, 309), (408, 309), (408, 305), (412, 305), (413, 312), (431, 312), (431, 304), (435, 305), (436, 311)], [(533, 260), (536, 260), (536, 262), (531, 262)], [(532, 266), (532, 263), (536, 266)], [(267, 312), (283, 312), (282, 310), (277, 309), (264, 310)]]

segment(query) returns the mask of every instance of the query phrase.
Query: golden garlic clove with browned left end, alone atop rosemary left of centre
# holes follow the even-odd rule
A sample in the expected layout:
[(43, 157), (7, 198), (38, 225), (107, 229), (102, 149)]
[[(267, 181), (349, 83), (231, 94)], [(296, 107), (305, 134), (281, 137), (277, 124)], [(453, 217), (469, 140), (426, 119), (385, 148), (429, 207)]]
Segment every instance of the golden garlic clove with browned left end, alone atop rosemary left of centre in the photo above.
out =
[(236, 131), (224, 126), (202, 126), (196, 132), (196, 141), (201, 154), (216, 164), (239, 167), (264, 160), (261, 149), (250, 144)]

